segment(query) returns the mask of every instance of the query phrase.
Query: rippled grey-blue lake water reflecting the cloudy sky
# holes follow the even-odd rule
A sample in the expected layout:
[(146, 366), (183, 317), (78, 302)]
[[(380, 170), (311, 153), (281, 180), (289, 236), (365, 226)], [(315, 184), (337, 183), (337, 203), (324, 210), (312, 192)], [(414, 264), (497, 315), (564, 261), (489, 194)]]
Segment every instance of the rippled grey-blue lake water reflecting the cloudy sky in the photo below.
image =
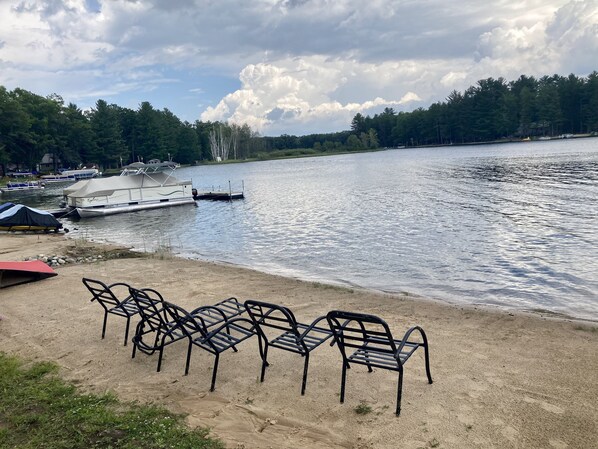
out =
[[(200, 190), (243, 180), (245, 200), (65, 219), (69, 235), (140, 250), (169, 246), (311, 281), (598, 319), (598, 139), (177, 173)], [(60, 192), (20, 198), (55, 208)]]

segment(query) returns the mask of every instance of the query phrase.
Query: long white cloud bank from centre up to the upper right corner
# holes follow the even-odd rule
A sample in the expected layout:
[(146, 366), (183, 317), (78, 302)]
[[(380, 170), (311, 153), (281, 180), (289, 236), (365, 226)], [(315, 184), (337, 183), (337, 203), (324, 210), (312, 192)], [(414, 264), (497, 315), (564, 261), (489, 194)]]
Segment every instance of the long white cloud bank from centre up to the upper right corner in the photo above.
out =
[[(472, 53), (460, 58), (371, 63), (318, 55), (252, 65), (241, 72), (241, 90), (201, 118), (247, 122), (273, 133), (314, 131), (318, 123), (334, 118), (344, 123), (340, 129), (347, 129), (357, 112), (429, 105), (443, 100), (450, 90), (464, 90), (483, 78), (566, 74), (576, 62), (585, 68), (577, 73), (588, 73), (598, 69), (597, 5), (590, 0), (560, 9), (532, 8), (480, 33)], [(260, 73), (253, 76), (256, 68)], [(239, 98), (251, 101), (231, 101)]]

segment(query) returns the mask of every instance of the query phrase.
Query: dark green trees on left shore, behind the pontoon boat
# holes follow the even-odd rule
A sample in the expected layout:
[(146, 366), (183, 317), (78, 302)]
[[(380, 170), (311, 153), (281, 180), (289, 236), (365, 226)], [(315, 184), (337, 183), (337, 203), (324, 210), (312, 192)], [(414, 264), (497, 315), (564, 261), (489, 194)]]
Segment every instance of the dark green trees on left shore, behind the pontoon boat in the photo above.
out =
[(256, 135), (248, 126), (216, 125), (181, 121), (148, 102), (132, 110), (98, 100), (90, 111), (82, 111), (55, 94), (42, 97), (0, 86), (0, 168), (16, 164), (34, 170), (45, 154), (59, 164), (55, 170), (90, 164), (110, 169), (151, 159), (192, 164), (214, 158), (210, 132), (223, 126), (227, 139), (234, 132), (244, 145), (245, 151), (235, 156), (249, 156), (249, 141)]

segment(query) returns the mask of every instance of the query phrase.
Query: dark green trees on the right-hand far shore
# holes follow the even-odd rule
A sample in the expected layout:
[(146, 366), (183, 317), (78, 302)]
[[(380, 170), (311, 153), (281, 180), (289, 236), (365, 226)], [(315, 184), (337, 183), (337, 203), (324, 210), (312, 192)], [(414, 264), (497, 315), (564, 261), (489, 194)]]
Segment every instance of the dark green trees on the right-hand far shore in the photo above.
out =
[(376, 131), (386, 147), (450, 145), (598, 132), (598, 72), (480, 80), (428, 109), (355, 115), (354, 133)]

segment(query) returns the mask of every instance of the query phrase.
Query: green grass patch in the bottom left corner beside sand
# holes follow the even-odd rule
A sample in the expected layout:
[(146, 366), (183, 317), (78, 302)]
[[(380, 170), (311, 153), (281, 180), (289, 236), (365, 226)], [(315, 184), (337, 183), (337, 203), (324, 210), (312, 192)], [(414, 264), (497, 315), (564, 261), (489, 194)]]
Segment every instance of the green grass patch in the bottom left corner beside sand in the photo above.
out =
[(0, 352), (0, 447), (224, 448), (181, 415), (113, 394), (81, 394), (57, 371), (54, 363), (26, 364)]

